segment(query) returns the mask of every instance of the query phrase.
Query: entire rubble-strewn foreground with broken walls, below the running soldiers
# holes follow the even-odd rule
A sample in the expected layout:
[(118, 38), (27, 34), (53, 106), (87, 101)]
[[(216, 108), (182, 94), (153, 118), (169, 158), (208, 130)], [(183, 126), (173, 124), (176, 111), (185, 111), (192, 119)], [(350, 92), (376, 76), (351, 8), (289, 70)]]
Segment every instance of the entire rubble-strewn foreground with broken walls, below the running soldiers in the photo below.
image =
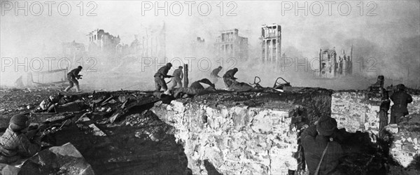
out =
[[(153, 92), (59, 94), (55, 87), (1, 90), (1, 131), (27, 113), (43, 126), (43, 151), (2, 174), (290, 174), (305, 172), (300, 134), (335, 118), (346, 153), (336, 174), (419, 174), (420, 94), (397, 134), (379, 132), (379, 99), (274, 83), (162, 102)], [(257, 88), (257, 87), (260, 88)], [(14, 100), (12, 99), (18, 99)], [(38, 106), (41, 104), (41, 106)], [(398, 129), (397, 129), (398, 130)], [(11, 174), (11, 173), (10, 173)]]

